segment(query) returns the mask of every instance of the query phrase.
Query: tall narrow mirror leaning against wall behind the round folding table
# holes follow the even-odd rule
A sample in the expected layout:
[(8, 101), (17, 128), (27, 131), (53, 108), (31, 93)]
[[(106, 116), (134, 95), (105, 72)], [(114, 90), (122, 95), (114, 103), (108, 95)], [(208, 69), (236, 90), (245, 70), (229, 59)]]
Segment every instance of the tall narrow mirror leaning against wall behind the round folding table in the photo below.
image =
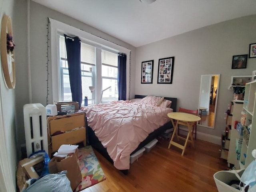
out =
[(214, 129), (220, 74), (202, 75), (198, 111), (198, 125)]

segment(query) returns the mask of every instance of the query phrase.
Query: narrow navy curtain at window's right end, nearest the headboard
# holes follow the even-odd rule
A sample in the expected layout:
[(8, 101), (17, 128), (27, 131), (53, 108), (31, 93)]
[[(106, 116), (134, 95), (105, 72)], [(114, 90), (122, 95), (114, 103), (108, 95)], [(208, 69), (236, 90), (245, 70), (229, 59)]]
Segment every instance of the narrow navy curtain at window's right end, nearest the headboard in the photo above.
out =
[(118, 54), (118, 100), (126, 100), (126, 54)]

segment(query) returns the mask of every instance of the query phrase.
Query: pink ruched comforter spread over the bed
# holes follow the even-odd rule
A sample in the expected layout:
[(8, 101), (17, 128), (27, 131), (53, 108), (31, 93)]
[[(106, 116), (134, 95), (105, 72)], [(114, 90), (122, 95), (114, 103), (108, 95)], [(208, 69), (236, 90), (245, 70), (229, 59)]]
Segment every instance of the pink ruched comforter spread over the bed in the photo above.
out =
[(119, 170), (130, 168), (130, 154), (148, 134), (170, 121), (171, 108), (139, 102), (112, 101), (82, 108), (88, 126), (94, 130)]

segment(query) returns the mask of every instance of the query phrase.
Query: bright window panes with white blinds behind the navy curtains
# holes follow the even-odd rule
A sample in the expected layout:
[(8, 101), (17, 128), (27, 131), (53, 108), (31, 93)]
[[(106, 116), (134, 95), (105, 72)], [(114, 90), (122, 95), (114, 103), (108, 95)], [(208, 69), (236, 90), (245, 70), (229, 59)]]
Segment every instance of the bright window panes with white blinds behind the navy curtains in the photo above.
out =
[[(61, 34), (59, 35), (59, 51), (60, 51), (60, 76), (61, 76), (61, 100), (72, 101), (72, 94), (70, 90), (69, 74), (68, 74), (68, 62), (66, 56), (65, 38)], [(101, 52), (102, 57), (97, 59), (97, 52)], [(118, 100), (118, 88), (117, 88), (117, 64), (118, 55), (106, 50), (95, 48), (88, 45), (85, 42), (81, 42), (81, 75), (82, 75), (82, 97), (88, 97), (88, 104), (96, 102), (95, 92), (90, 92), (89, 86), (102, 87), (101, 90), (110, 87), (102, 94), (102, 102), (109, 102), (112, 100)], [(97, 67), (102, 69), (101, 82), (94, 84), (96, 79)], [(99, 101), (100, 102), (100, 101)], [(84, 100), (82, 100), (84, 105)]]

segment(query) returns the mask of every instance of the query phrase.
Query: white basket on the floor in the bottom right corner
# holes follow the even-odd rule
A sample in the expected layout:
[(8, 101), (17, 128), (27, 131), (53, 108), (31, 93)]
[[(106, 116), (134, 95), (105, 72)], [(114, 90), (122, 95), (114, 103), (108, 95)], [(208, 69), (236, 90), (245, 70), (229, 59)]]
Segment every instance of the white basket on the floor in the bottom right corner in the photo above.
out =
[(242, 177), (244, 170), (245, 169), (216, 172), (213, 177), (218, 188), (218, 192), (240, 192), (240, 190), (229, 186), (228, 184), (232, 180), (240, 180), (240, 178), (236, 176), (236, 172), (238, 173), (238, 176)]

